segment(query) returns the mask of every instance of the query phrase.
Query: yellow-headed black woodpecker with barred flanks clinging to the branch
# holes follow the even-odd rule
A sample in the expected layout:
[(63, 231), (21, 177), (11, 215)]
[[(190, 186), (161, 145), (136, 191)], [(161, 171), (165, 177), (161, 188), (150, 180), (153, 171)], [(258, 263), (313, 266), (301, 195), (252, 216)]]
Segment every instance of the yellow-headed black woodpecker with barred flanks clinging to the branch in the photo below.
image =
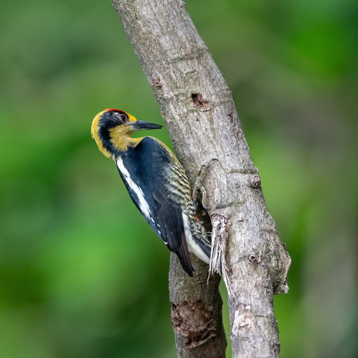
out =
[(179, 160), (159, 139), (131, 137), (135, 131), (161, 128), (137, 121), (127, 112), (107, 108), (93, 119), (91, 134), (100, 151), (115, 161), (146, 222), (193, 277), (195, 268), (189, 252), (209, 263), (211, 243), (195, 214), (189, 180)]

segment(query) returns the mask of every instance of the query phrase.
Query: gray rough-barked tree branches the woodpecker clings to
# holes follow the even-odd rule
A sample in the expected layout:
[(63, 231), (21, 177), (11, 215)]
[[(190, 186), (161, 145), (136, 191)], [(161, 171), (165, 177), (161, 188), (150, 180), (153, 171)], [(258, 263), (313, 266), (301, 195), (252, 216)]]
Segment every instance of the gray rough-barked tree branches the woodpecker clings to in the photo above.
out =
[[(112, 3), (190, 182), (200, 165), (219, 160), (208, 171), (204, 186), (212, 208), (215, 256), (226, 259), (224, 273), (232, 292), (228, 304), (233, 357), (278, 357), (272, 295), (287, 292), (291, 260), (267, 211), (231, 92), (183, 1)], [(219, 279), (211, 276), (207, 285), (208, 266), (195, 258), (193, 262), (197, 273), (190, 279), (175, 256), (170, 260), (178, 357), (224, 357)]]

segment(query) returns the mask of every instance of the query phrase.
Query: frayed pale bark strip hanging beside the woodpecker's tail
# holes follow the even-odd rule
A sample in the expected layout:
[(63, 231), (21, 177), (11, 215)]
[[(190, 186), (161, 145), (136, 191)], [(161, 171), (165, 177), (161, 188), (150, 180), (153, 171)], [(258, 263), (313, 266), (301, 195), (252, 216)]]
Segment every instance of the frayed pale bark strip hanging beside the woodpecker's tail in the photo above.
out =
[(226, 232), (226, 220), (224, 216), (213, 217), (213, 232), (211, 238), (211, 256), (209, 263), (209, 276), (210, 274), (218, 273), (222, 274), (229, 297), (234, 297), (234, 293), (231, 286), (231, 281), (228, 276), (228, 269), (225, 261), (226, 244), (227, 244), (227, 232)]

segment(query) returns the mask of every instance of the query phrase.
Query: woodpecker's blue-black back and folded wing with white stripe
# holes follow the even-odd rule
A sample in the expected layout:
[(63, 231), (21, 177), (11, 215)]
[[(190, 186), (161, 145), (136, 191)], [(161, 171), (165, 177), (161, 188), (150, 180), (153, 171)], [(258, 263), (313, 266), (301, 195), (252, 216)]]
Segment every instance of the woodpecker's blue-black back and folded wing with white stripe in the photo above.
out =
[(164, 188), (165, 166), (170, 160), (163, 146), (151, 137), (144, 137), (135, 148), (118, 157), (116, 163), (136, 207), (169, 250), (178, 255), (184, 271), (193, 276), (182, 209)]

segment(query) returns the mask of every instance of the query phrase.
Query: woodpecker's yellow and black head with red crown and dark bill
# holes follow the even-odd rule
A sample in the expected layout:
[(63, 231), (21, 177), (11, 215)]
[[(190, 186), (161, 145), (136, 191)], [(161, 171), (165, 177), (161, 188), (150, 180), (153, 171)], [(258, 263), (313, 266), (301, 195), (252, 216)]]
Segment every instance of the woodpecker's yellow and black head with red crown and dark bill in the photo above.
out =
[(129, 146), (136, 146), (141, 138), (131, 138), (135, 131), (143, 129), (160, 129), (159, 124), (137, 121), (129, 113), (106, 109), (97, 114), (91, 126), (92, 138), (100, 151), (108, 158), (113, 158), (118, 152), (123, 152)]

